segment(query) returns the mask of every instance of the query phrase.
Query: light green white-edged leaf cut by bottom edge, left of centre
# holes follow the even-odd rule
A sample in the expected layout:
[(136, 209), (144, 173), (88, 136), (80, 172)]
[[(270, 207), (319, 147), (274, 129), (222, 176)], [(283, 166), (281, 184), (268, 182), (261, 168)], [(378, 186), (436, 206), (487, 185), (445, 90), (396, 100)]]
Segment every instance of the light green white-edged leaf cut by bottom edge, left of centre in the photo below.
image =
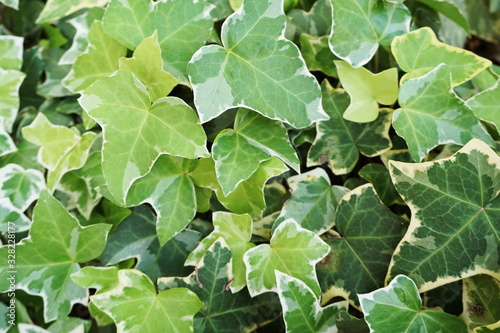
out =
[(156, 293), (156, 288), (138, 270), (120, 270), (118, 284), (91, 296), (97, 308), (113, 318), (118, 333), (193, 332), (193, 316), (203, 303), (186, 288)]

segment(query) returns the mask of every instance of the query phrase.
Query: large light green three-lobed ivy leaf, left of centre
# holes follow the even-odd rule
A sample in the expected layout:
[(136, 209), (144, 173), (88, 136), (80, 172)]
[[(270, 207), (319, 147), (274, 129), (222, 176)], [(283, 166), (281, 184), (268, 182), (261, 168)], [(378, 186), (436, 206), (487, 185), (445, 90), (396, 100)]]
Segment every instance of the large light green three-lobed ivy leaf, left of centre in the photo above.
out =
[(122, 204), (132, 183), (161, 154), (208, 156), (195, 112), (176, 97), (151, 104), (146, 87), (128, 71), (96, 81), (78, 101), (103, 127), (102, 170), (109, 191)]

